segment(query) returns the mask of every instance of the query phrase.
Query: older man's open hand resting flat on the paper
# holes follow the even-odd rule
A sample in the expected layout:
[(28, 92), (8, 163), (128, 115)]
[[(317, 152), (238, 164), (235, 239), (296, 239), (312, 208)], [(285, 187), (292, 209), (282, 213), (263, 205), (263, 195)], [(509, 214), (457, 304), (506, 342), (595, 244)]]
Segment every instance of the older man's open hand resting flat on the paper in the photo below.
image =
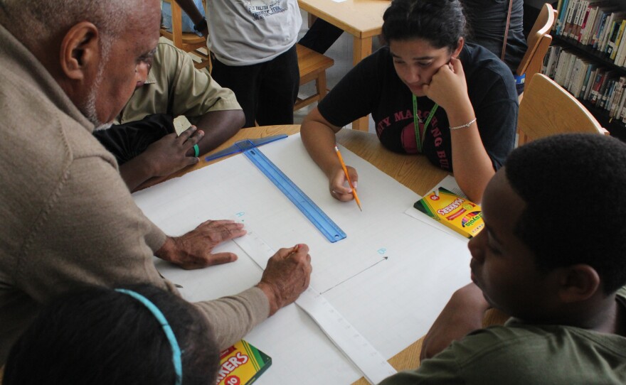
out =
[(243, 224), (231, 220), (206, 221), (180, 237), (168, 237), (156, 255), (183, 269), (200, 269), (206, 266), (235, 261), (233, 253), (212, 254), (213, 247), (245, 234)]

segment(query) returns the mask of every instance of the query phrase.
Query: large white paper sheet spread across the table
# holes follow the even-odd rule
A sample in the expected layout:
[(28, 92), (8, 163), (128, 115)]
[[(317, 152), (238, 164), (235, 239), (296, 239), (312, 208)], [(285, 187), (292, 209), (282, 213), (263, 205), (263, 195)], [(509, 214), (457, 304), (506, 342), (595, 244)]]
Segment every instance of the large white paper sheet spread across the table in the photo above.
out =
[[(237, 218), (272, 249), (309, 245), (312, 286), (356, 330), (390, 358), (428, 331), (453, 291), (470, 282), (467, 241), (440, 232), (404, 212), (420, 199), (408, 188), (341, 148), (359, 171), (359, 198), (339, 202), (299, 136), (262, 146), (265, 153), (347, 234), (330, 243), (295, 205), (244, 156), (238, 155), (134, 194), (137, 205), (170, 235), (206, 219)], [(234, 242), (232, 264), (183, 271), (155, 259), (189, 300), (208, 300), (258, 283), (262, 271)], [(385, 257), (387, 257), (385, 259)], [(291, 305), (245, 337), (272, 357), (258, 384), (350, 384), (359, 379), (302, 310)]]

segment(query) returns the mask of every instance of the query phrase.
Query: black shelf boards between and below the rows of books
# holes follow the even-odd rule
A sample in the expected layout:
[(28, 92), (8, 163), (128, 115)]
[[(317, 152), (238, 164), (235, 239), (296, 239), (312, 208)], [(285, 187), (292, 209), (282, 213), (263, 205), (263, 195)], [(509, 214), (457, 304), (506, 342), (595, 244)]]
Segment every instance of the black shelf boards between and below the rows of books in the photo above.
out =
[[(615, 0), (612, 2), (617, 4), (620, 9), (626, 12), (626, 0)], [(556, 6), (556, 4), (554, 4), (554, 6)], [(615, 65), (606, 53), (595, 50), (589, 45), (580, 44), (575, 39), (558, 36), (554, 33), (554, 31), (552, 31), (551, 35), (553, 45), (560, 45), (562, 48), (571, 50), (576, 55), (593, 60), (595, 63), (598, 63), (598, 65), (602, 65), (609, 70), (616, 70), (616, 72), (620, 75), (626, 75), (626, 67)], [(579, 99), (579, 101), (589, 110), (591, 114), (593, 114), (593, 116), (595, 116), (595, 119), (598, 119), (598, 122), (600, 122), (605, 129), (608, 129), (611, 136), (615, 136), (622, 141), (626, 141), (626, 124), (624, 122), (618, 119), (610, 119), (607, 110), (595, 107), (586, 100)]]

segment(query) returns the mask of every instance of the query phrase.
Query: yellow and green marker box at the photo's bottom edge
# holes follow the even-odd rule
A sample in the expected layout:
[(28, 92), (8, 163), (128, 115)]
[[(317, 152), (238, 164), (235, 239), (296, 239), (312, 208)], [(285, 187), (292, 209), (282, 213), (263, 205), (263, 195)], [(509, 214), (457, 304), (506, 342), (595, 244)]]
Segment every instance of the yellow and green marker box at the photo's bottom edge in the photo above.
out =
[(244, 340), (220, 353), (217, 385), (250, 385), (272, 364), (272, 358)]

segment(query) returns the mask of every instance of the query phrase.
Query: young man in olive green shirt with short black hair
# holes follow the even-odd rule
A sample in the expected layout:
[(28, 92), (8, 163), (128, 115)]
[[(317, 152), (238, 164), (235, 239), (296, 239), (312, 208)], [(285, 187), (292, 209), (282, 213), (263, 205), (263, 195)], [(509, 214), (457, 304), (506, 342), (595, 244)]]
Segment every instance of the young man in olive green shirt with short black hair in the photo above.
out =
[[(484, 192), (473, 283), (431, 327), (421, 366), (381, 385), (626, 384), (624, 191), (617, 139), (559, 135), (513, 151)], [(490, 307), (512, 318), (481, 329)]]

